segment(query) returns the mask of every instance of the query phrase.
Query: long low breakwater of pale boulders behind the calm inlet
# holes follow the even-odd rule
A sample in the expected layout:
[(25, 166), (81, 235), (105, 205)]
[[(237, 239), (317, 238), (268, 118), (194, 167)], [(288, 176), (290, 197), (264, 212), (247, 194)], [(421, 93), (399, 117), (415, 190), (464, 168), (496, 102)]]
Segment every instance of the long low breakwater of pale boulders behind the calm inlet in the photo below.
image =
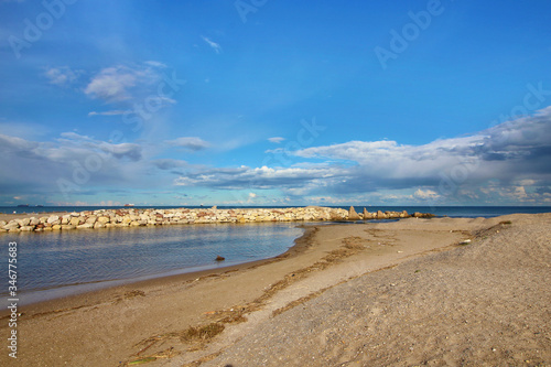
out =
[(98, 209), (94, 212), (68, 213), (64, 215), (44, 215), (0, 220), (0, 233), (47, 231), (69, 229), (98, 229), (112, 227), (139, 227), (187, 225), (207, 223), (263, 223), (263, 222), (326, 222), (326, 220), (363, 220), (391, 219), (407, 217), (432, 217), (431, 214), (408, 212), (364, 212), (358, 214), (331, 207), (307, 206), (289, 208), (177, 208), (177, 209)]

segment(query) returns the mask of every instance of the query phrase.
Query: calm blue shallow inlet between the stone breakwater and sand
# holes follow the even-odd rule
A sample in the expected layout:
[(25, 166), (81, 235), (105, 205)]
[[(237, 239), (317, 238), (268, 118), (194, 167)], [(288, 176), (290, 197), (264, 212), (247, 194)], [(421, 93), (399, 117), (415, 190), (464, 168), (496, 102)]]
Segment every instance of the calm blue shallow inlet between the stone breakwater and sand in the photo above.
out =
[[(9, 241), (18, 242), (18, 289), (24, 299), (25, 293), (39, 290), (133, 281), (267, 259), (287, 251), (303, 231), (290, 223), (205, 224), (20, 233), (4, 235), (2, 241), (6, 247)], [(218, 255), (226, 260), (215, 261)]]

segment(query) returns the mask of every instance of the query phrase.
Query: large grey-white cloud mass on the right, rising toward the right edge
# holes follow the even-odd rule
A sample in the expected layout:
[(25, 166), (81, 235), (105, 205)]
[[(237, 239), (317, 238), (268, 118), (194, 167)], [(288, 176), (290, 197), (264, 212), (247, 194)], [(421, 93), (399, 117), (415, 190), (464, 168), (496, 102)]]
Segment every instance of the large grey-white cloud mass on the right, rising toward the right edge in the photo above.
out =
[[(269, 152), (276, 151), (281, 152)], [(534, 192), (551, 183), (551, 109), (477, 134), (439, 139), (422, 145), (389, 140), (350, 141), (288, 154), (321, 162), (289, 168), (241, 166), (225, 173), (203, 170), (187, 173), (175, 184), (278, 188), (295, 196), (324, 193), (349, 197), (396, 190), (402, 192), (386, 198), (439, 203), (462, 199), (478, 203), (478, 197), (495, 198), (511, 185), (532, 184)], [(518, 199), (525, 194), (536, 201), (543, 197), (542, 193), (530, 194), (528, 190), (507, 193), (507, 197), (515, 194)]]

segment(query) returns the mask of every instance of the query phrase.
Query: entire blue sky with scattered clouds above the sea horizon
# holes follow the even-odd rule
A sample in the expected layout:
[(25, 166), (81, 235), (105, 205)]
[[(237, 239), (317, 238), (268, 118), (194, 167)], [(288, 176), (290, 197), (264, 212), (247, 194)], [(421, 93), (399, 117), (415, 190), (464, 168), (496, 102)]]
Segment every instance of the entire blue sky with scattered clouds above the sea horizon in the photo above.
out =
[(549, 14), (0, 0), (0, 205), (551, 205)]

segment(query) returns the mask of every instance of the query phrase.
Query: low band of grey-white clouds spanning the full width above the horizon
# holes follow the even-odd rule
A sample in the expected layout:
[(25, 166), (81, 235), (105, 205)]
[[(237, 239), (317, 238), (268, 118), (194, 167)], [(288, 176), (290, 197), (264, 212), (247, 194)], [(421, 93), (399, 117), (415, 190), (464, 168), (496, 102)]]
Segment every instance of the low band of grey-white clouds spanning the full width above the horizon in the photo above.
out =
[(289, 166), (193, 165), (166, 154), (177, 147), (193, 155), (208, 150), (207, 141), (181, 137), (165, 143), (150, 153), (144, 143), (115, 144), (75, 132), (51, 142), (0, 134), (0, 164), (9, 173), (0, 177), (2, 198), (31, 192), (60, 196), (62, 180), (75, 184), (77, 188), (69, 186), (75, 193), (120, 187), (262, 190), (296, 204), (551, 203), (551, 107), (475, 134), (421, 145), (382, 140), (301, 149), (287, 152), (295, 162)]

